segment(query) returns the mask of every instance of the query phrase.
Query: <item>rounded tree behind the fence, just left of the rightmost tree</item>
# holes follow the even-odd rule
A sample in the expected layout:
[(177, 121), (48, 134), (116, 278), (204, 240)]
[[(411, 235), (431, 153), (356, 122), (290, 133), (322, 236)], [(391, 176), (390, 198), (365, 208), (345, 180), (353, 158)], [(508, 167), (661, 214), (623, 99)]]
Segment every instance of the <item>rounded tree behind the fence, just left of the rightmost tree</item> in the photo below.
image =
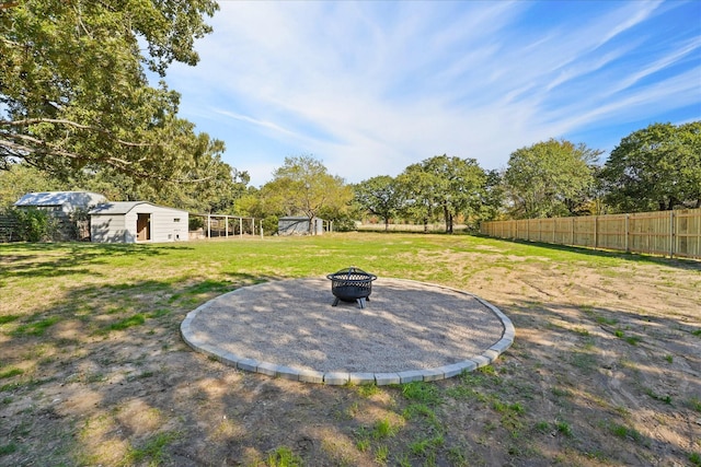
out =
[(515, 218), (576, 215), (594, 186), (601, 151), (551, 139), (512, 153), (504, 173)]

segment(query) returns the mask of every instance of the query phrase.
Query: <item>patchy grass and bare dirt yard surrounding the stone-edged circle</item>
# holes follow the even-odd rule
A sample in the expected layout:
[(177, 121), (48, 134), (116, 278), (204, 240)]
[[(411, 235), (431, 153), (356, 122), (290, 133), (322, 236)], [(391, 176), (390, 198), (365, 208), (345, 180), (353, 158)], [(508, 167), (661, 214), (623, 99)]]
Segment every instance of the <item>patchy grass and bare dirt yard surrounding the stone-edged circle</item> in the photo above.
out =
[[(487, 300), (514, 346), (435, 383), (274, 378), (193, 351), (179, 328), (207, 300), (292, 270), (284, 258), (237, 269), (218, 253), (186, 269), (169, 262), (180, 250), (119, 250), (107, 265), (81, 247), (12, 250), (0, 256), (0, 465), (701, 465), (701, 264), (363, 235), (389, 245), (364, 269)], [(324, 240), (319, 268), (333, 271), (326, 249), (354, 238)], [(227, 244), (239, 261), (267, 255)]]

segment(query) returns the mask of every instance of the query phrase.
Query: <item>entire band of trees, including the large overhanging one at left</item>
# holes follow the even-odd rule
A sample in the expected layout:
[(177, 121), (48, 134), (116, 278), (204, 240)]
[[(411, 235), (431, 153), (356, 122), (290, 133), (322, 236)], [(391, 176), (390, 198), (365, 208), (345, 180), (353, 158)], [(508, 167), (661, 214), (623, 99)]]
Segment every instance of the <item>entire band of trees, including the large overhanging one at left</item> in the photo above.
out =
[(180, 95), (152, 85), (172, 62), (196, 65), (214, 0), (0, 2), (0, 208), (27, 191), (90, 190), (196, 213), (322, 217), (337, 229), (374, 217), (469, 227), (484, 220), (633, 212), (701, 203), (701, 122), (655, 124), (601, 165), (586, 144), (549, 140), (507, 167), (436, 155), (395, 177), (347, 185), (312, 156), (271, 182), (225, 163), (223, 142), (177, 116)]

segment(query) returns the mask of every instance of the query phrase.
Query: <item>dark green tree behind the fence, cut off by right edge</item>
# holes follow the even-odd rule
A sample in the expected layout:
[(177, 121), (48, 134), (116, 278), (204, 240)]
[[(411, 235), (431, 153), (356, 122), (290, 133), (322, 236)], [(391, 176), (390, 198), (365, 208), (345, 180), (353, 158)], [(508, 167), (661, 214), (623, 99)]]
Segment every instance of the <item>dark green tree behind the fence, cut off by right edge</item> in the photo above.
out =
[(600, 178), (618, 211), (701, 207), (701, 121), (653, 124), (623, 138)]

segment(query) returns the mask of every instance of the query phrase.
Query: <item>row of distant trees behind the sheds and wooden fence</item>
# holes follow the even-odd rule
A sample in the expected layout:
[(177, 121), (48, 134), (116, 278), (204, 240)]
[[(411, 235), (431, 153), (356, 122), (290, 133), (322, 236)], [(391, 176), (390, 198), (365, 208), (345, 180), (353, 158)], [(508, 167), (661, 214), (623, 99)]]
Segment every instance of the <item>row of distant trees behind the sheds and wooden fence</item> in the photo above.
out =
[(221, 177), (193, 184), (139, 183), (126, 174), (78, 173), (56, 178), (27, 164), (0, 172), (5, 206), (32, 190), (85, 189), (110, 199), (148, 199), (191, 212), (264, 220), (275, 232), (283, 215), (334, 221), (352, 230), (358, 220), (479, 229), (482, 221), (590, 215), (701, 207), (701, 121), (655, 124), (623, 138), (604, 164), (601, 151), (551, 139), (520, 148), (502, 171), (474, 159), (436, 155), (398, 176), (346, 184), (311, 155), (286, 157), (260, 188), (222, 162)]

